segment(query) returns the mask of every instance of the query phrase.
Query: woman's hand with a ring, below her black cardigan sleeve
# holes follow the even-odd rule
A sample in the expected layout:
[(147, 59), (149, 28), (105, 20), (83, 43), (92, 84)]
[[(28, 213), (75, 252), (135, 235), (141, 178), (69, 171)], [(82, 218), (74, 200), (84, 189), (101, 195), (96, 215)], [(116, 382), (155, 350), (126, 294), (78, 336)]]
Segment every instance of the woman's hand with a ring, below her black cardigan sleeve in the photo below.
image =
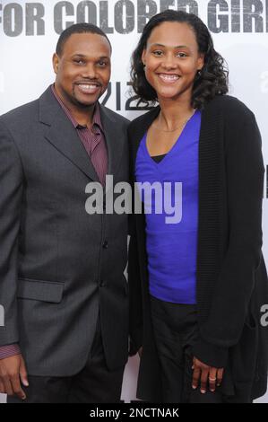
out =
[(207, 391), (207, 384), (209, 382), (210, 391), (214, 392), (217, 387), (220, 387), (223, 377), (223, 368), (214, 368), (213, 366), (208, 366), (203, 364), (200, 360), (194, 357), (192, 369), (194, 369), (193, 374), (193, 389), (198, 388), (199, 382), (201, 382), (201, 392), (204, 394)]

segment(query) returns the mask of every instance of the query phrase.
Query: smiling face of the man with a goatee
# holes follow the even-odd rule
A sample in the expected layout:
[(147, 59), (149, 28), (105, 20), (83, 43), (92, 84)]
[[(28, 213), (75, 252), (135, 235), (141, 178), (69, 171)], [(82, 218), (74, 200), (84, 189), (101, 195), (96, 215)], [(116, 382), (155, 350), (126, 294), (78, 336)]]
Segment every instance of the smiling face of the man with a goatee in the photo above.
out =
[(53, 57), (56, 90), (70, 109), (91, 107), (106, 91), (111, 75), (108, 40), (91, 33), (73, 34), (61, 56)]

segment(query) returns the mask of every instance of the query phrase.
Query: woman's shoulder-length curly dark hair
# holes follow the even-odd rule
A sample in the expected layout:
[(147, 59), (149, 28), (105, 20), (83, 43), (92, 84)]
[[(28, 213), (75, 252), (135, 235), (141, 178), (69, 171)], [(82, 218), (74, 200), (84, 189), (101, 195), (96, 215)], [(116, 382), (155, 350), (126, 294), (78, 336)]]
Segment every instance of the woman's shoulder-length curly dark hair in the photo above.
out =
[(205, 103), (211, 101), (216, 95), (223, 95), (229, 91), (229, 71), (223, 57), (215, 51), (210, 31), (201, 19), (194, 13), (175, 10), (167, 10), (153, 16), (144, 27), (138, 46), (134, 50), (131, 78), (139, 103), (149, 104), (158, 101), (157, 92), (145, 77), (142, 55), (151, 31), (163, 22), (187, 23), (195, 31), (199, 53), (204, 55), (204, 66), (201, 73), (195, 75), (192, 106), (195, 109), (203, 109)]

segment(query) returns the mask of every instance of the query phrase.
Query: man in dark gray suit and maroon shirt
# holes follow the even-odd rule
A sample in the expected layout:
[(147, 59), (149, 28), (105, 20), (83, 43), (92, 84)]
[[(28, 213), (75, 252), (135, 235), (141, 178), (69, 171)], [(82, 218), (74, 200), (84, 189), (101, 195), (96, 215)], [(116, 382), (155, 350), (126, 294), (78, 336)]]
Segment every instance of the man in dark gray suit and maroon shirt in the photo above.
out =
[(120, 400), (127, 215), (85, 210), (88, 183), (128, 178), (127, 120), (98, 101), (110, 57), (99, 28), (73, 25), (57, 43), (56, 83), (0, 118), (0, 392), (9, 403)]

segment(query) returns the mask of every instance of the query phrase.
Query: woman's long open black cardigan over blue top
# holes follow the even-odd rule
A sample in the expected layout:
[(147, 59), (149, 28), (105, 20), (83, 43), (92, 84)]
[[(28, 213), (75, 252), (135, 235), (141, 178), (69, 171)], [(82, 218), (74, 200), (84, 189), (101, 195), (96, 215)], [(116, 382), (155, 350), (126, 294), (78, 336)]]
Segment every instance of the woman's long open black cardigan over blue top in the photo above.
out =
[[(138, 147), (159, 112), (156, 107), (129, 126), (133, 182)], [(199, 340), (194, 355), (207, 365), (229, 363), (245, 398), (263, 395), (267, 385), (268, 329), (260, 322), (261, 308), (268, 303), (261, 251), (263, 194), (264, 163), (255, 116), (236, 98), (217, 96), (202, 110), (199, 139)], [(131, 227), (131, 355), (143, 345), (138, 397), (157, 401), (159, 361), (151, 333), (144, 215), (134, 215)]]

